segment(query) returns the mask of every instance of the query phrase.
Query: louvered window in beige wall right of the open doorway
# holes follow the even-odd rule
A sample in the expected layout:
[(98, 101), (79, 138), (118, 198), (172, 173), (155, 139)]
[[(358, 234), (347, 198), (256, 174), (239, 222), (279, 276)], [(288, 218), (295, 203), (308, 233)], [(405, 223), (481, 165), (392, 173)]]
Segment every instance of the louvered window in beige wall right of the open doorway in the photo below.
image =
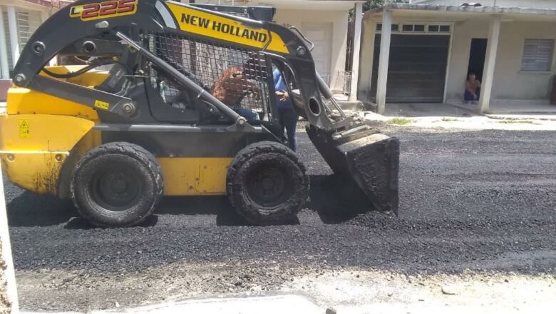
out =
[(521, 71), (550, 71), (554, 39), (525, 39)]

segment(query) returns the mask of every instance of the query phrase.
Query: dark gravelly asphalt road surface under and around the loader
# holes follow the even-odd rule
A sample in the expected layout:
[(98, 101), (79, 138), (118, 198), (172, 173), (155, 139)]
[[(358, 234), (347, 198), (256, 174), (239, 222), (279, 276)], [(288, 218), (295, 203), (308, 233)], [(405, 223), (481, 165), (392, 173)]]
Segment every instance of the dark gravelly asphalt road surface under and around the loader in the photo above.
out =
[(290, 226), (246, 226), (225, 198), (171, 198), (143, 226), (92, 228), (71, 203), (6, 183), (21, 306), (273, 290), (324, 270), (556, 273), (555, 132), (387, 131), (401, 138), (398, 218), (365, 212), (304, 133), (312, 204)]

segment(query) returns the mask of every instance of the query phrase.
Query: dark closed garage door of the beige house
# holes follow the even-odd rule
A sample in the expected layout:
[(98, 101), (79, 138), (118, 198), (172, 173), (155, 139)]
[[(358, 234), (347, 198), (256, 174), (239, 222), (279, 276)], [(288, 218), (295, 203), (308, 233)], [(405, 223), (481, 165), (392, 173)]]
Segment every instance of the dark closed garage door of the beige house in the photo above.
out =
[[(376, 101), (381, 35), (374, 41), (371, 101)], [(450, 35), (392, 34), (387, 102), (442, 102)], [(462, 86), (463, 90), (463, 86)]]

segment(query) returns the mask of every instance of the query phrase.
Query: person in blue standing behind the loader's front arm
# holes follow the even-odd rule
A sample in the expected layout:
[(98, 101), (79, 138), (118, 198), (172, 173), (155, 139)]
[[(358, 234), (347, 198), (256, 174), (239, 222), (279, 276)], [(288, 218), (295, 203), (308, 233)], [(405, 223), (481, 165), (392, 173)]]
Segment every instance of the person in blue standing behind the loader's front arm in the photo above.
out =
[(292, 100), (289, 98), (286, 81), (284, 80), (282, 71), (274, 69), (272, 76), (274, 76), (274, 91), (276, 92), (276, 104), (278, 108), (280, 129), (284, 132), (285, 128), (288, 138), (288, 146), (289, 148), (292, 148), (292, 151), (295, 151), (297, 148), (295, 128), (297, 126), (297, 119), (299, 116), (297, 116)]

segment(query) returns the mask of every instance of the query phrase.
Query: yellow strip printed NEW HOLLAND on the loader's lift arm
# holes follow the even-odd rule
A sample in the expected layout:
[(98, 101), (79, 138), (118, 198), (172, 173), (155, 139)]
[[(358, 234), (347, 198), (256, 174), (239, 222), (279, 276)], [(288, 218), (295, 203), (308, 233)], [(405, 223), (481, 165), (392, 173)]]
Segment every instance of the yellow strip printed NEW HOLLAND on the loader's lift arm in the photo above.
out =
[(268, 44), (269, 50), (288, 53), (282, 38), (274, 32), (271, 36), (267, 29), (245, 26), (240, 21), (171, 2), (167, 2), (166, 5), (172, 11), (182, 31), (259, 49)]

